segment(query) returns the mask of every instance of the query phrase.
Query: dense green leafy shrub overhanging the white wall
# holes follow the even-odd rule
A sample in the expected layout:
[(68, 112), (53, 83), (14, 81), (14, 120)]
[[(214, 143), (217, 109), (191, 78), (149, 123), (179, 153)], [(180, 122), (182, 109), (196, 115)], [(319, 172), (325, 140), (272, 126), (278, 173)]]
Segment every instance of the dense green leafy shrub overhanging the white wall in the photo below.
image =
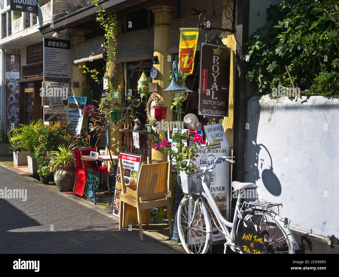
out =
[[(278, 86), (304, 95), (339, 94), (339, 5), (333, 0), (283, 0), (250, 37), (243, 59), (256, 94)], [(289, 76), (290, 74), (290, 76)]]

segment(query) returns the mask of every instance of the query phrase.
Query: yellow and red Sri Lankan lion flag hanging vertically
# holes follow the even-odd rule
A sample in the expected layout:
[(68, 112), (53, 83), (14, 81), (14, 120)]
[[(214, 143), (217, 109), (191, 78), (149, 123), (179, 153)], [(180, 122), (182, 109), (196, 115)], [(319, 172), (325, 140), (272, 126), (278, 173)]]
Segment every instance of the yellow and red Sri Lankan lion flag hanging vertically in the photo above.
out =
[(186, 75), (193, 72), (198, 36), (198, 28), (180, 28), (179, 68)]

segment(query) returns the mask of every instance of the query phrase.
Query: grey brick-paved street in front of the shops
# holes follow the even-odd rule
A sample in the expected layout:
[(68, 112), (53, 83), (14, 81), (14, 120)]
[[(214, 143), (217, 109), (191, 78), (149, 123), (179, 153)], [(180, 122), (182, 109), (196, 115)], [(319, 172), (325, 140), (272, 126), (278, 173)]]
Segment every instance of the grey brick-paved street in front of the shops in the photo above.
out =
[(27, 201), (0, 198), (0, 253), (179, 253), (0, 166), (5, 188), (27, 189)]

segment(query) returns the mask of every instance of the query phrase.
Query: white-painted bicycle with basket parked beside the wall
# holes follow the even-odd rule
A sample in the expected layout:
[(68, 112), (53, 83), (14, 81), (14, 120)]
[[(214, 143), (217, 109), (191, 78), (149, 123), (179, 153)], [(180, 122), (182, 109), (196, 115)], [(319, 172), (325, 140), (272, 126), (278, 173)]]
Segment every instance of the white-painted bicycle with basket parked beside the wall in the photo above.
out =
[[(212, 229), (218, 229), (226, 238), (224, 254), (227, 247), (234, 252), (248, 254), (294, 254), (299, 246), (288, 228), (290, 221), (279, 216), (282, 204), (262, 200), (241, 203), (240, 190), (255, 189), (255, 184), (232, 182), (233, 189), (238, 191), (233, 222), (227, 221), (221, 214), (217, 200), (210, 192), (210, 174), (219, 160), (234, 164), (235, 161), (230, 158), (233, 157), (216, 157), (208, 168), (197, 166), (192, 160), (184, 161), (187, 166), (192, 163), (199, 172), (195, 182), (182, 186), (185, 197), (179, 205), (177, 223), (185, 251), (205, 254), (213, 243)], [(273, 211), (273, 207), (278, 212)]]

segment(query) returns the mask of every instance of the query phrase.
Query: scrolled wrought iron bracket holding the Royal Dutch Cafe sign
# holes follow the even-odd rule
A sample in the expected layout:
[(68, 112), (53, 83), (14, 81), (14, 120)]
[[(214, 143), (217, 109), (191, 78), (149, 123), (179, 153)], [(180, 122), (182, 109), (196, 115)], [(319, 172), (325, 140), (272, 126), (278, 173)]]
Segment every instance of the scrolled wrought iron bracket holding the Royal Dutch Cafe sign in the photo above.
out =
[[(204, 31), (205, 34), (207, 34), (207, 32), (210, 31), (210, 30), (222, 31), (223, 35), (226, 32), (235, 33), (237, 31), (235, 29), (235, 7), (236, 7), (236, 2), (237, 2), (236, 0), (227, 0), (227, 5), (224, 6), (224, 7), (227, 7), (227, 9), (225, 9), (225, 13), (224, 13), (225, 14), (225, 18), (226, 18), (225, 21), (224, 21), (224, 24), (222, 24), (216, 18), (214, 18), (213, 15), (210, 15), (209, 13), (206, 13), (206, 12), (202, 12), (199, 15), (199, 22), (200, 22), (200, 24), (198, 24), (199, 30)], [(202, 18), (203, 14), (206, 14), (207, 16), (204, 16)], [(211, 26), (211, 21), (209, 20), (208, 16), (214, 18), (215, 20), (217, 20), (224, 28)]]

